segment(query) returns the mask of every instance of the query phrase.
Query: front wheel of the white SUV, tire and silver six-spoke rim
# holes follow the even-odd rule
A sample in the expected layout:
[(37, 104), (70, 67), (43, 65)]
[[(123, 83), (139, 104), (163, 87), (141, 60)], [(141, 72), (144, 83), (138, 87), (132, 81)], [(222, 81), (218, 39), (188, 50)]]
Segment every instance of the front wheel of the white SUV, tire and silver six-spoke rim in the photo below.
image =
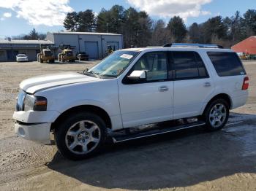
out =
[(107, 137), (105, 122), (96, 114), (75, 114), (56, 128), (56, 144), (64, 157), (82, 160), (99, 152)]

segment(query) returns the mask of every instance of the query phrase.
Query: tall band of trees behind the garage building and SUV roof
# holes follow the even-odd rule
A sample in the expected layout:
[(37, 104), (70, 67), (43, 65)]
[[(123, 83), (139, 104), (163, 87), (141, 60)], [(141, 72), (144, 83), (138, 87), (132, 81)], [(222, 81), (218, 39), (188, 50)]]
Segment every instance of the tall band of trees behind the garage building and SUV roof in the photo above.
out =
[(186, 27), (181, 17), (174, 16), (169, 22), (152, 20), (147, 12), (114, 5), (95, 15), (91, 9), (70, 12), (64, 20), (69, 31), (108, 32), (124, 35), (124, 47), (145, 47), (168, 42), (233, 44), (256, 35), (256, 9), (248, 9), (244, 15), (236, 12), (231, 17), (211, 17), (204, 23), (192, 23)]

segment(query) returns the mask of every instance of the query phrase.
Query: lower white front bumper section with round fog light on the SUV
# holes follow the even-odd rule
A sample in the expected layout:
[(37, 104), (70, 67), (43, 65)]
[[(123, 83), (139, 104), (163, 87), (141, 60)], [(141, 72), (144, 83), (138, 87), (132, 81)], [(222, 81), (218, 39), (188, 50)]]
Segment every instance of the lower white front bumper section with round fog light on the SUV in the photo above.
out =
[(27, 124), (15, 122), (15, 134), (39, 144), (50, 144), (51, 123)]

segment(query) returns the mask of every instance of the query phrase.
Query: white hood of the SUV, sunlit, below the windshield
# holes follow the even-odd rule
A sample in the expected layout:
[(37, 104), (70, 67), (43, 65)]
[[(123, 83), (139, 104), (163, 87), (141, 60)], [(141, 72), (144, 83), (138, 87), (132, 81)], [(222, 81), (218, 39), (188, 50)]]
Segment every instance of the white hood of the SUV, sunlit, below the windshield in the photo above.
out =
[(45, 90), (50, 87), (75, 84), (79, 82), (94, 82), (99, 80), (101, 79), (89, 77), (75, 72), (64, 72), (25, 79), (20, 83), (20, 88), (25, 90), (27, 93), (33, 94), (39, 90)]

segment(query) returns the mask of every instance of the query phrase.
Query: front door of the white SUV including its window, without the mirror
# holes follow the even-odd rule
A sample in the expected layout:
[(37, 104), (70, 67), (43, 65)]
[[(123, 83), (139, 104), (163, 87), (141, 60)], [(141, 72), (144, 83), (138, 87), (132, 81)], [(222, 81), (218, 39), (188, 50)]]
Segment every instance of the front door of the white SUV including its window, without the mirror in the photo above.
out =
[(172, 120), (173, 81), (168, 79), (167, 65), (167, 52), (148, 52), (127, 74), (135, 70), (145, 70), (145, 82), (127, 83), (122, 79), (118, 80), (124, 128)]

